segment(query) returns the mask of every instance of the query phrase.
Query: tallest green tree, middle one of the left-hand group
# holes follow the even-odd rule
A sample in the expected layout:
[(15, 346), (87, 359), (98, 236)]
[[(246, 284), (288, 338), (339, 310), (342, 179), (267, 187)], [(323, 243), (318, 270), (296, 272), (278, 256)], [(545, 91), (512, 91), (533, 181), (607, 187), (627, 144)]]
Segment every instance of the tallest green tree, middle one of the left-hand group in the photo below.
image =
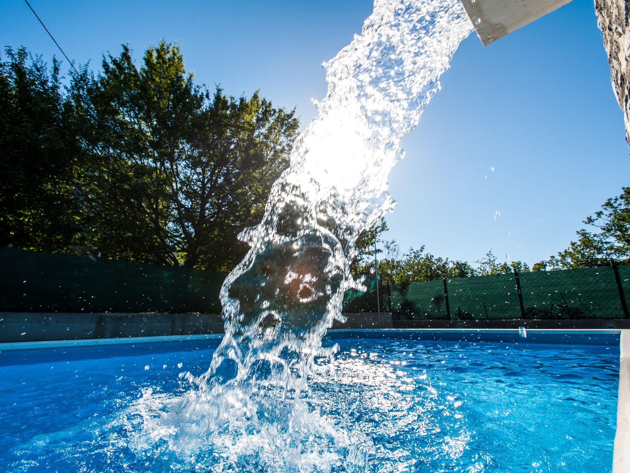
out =
[(96, 163), (86, 245), (112, 259), (179, 264), (166, 166), (188, 142), (203, 96), (179, 47), (164, 42), (146, 50), (140, 68), (127, 46), (102, 66), (74, 94)]

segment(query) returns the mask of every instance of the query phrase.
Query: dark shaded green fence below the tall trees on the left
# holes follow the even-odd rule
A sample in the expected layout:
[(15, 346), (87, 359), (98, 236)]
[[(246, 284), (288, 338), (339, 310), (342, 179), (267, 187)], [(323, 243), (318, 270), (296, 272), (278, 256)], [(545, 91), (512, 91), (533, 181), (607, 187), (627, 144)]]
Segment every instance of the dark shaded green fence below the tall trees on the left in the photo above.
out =
[(226, 274), (0, 248), (0, 312), (221, 313)]

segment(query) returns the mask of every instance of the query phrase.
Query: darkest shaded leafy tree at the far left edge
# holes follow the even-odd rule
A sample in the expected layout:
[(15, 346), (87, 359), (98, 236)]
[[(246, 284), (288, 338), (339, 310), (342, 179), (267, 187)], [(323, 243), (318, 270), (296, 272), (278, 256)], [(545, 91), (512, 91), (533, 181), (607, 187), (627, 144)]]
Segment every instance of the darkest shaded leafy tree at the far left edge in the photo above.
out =
[(84, 156), (72, 107), (24, 48), (0, 61), (0, 245), (69, 252), (80, 233)]

